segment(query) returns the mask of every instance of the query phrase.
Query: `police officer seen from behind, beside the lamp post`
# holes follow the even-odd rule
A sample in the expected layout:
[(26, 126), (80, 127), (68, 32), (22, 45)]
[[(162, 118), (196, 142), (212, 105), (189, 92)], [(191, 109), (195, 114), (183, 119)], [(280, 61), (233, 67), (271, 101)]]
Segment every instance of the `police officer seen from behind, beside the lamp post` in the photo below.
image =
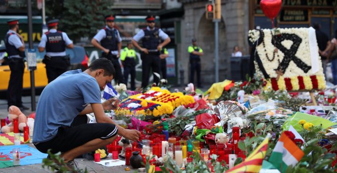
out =
[(58, 19), (47, 22), (49, 32), (42, 35), (38, 46), (39, 52), (43, 52), (44, 49), (46, 51), (42, 62), (45, 64), (48, 83), (67, 71), (70, 59), (65, 53), (65, 47), (74, 48), (67, 34), (57, 31), (58, 23)]

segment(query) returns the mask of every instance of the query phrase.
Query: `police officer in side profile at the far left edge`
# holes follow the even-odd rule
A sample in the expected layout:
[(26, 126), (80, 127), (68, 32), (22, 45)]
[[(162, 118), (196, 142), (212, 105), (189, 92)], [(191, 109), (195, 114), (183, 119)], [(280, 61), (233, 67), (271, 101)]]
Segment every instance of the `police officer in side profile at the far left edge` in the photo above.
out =
[(5, 36), (5, 46), (8, 53), (8, 63), (11, 70), (7, 89), (7, 101), (9, 106), (17, 106), (21, 110), (29, 108), (23, 106), (21, 96), (23, 88), (23, 72), (25, 71), (25, 42), (21, 35), (16, 32), (19, 30), (19, 20), (7, 21), (9, 31)]

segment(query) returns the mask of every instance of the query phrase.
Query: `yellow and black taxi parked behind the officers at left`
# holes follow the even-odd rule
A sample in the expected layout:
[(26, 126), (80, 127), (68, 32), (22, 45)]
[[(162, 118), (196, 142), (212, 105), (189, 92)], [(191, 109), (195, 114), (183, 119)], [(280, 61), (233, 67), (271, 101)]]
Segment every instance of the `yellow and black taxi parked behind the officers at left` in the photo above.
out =
[[(33, 47), (37, 49), (37, 44)], [(28, 50), (29, 46), (26, 45), (26, 51)], [(86, 54), (86, 51), (81, 46), (75, 46), (74, 49), (68, 49), (66, 48), (66, 54), (70, 56), (70, 67), (69, 70), (75, 70), (75, 69), (82, 69), (85, 70), (88, 67), (88, 56)], [(0, 46), (0, 54), (4, 54), (6, 52), (5, 46)], [(34, 77), (35, 77), (35, 87), (36, 89), (44, 88), (45, 85), (48, 84), (47, 75), (45, 72), (45, 65), (42, 63), (44, 52), (38, 52), (37, 53), (37, 69), (34, 71)], [(9, 69), (8, 60), (5, 57), (5, 62), (2, 63), (0, 66), (0, 91), (6, 91), (8, 88), (8, 82), (11, 74), (11, 70)], [(23, 89), (30, 89), (31, 88), (31, 79), (30, 79), (30, 71), (27, 70), (27, 62), (25, 63), (26, 68), (25, 72), (23, 73)]]

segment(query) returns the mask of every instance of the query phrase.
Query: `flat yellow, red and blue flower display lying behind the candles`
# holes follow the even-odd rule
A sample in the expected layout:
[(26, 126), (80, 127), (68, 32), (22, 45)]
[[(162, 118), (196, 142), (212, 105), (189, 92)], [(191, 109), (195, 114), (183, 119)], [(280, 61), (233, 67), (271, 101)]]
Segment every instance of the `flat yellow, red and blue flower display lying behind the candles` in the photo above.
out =
[(143, 115), (162, 116), (171, 114), (180, 105), (194, 103), (192, 96), (183, 93), (171, 93), (168, 90), (161, 90), (159, 87), (152, 87), (148, 92), (130, 96), (119, 104), (116, 111), (117, 116)]

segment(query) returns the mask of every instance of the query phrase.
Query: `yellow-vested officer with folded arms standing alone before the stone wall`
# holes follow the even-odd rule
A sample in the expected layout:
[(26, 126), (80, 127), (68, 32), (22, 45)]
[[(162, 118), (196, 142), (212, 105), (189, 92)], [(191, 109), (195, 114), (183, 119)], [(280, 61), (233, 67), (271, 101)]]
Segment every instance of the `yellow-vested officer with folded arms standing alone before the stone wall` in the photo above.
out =
[(189, 82), (194, 83), (194, 74), (197, 72), (197, 84), (199, 88), (202, 88), (200, 80), (200, 56), (204, 55), (204, 52), (197, 45), (197, 39), (192, 39), (192, 45), (188, 46), (188, 53), (190, 65)]

